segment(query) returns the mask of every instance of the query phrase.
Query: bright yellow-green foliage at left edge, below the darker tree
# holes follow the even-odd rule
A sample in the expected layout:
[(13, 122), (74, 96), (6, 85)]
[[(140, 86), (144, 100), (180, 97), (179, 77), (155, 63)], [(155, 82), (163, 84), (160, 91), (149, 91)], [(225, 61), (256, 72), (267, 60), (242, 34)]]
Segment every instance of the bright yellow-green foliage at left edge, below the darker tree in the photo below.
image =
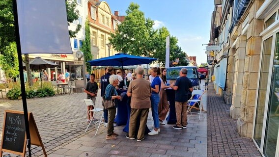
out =
[(16, 78), (19, 75), (18, 55), (15, 42), (4, 48), (5, 54), (0, 54), (0, 66), (7, 78)]

